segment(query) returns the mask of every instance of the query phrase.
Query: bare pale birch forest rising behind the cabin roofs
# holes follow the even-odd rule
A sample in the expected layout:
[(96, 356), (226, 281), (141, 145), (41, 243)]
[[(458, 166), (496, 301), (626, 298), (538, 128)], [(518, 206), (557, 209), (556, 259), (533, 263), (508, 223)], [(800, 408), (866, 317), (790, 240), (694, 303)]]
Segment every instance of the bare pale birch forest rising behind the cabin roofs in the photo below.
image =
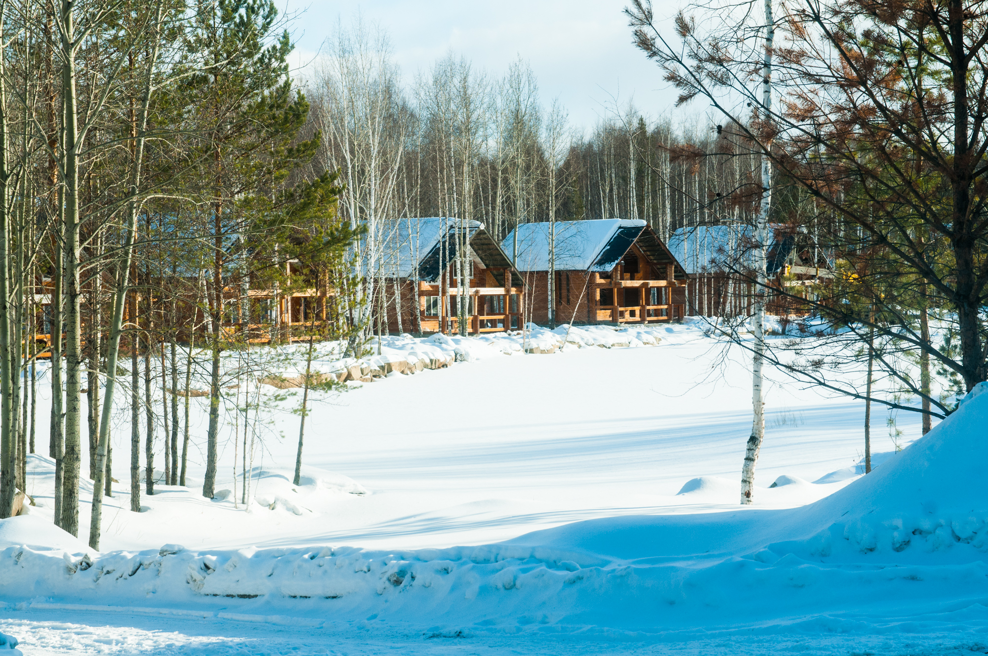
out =
[[(311, 166), (341, 172), (341, 216), (367, 228), (356, 256), (378, 331), (388, 308), (399, 321), (417, 309), (401, 307), (386, 280), (395, 218), (478, 220), (499, 242), (520, 223), (635, 218), (668, 240), (684, 227), (750, 223), (758, 211), (741, 198), (759, 178), (750, 144), (696, 157), (719, 134), (705, 116), (674, 123), (612, 107), (583, 130), (541, 100), (525, 61), (497, 76), (449, 54), (403, 72), (386, 34), (360, 21), (338, 24), (310, 68), (310, 130), (324, 135)], [(514, 257), (514, 245), (506, 252)]]

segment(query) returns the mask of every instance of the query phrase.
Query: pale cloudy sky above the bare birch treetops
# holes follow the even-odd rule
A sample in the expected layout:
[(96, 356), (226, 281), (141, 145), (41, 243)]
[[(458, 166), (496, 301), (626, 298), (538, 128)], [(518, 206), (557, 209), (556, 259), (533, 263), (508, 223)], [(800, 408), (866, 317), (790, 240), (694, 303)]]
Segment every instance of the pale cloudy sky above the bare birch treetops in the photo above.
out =
[[(621, 109), (633, 101), (654, 117), (670, 111), (676, 96), (658, 67), (631, 45), (621, 13), (627, 0), (278, 2), (297, 15), (289, 29), (299, 63), (316, 55), (338, 17), (346, 25), (359, 12), (388, 33), (406, 82), (449, 51), (495, 76), (521, 56), (535, 71), (542, 102), (558, 97), (570, 122), (588, 131), (616, 101)], [(656, 16), (668, 19), (680, 5), (655, 0)]]

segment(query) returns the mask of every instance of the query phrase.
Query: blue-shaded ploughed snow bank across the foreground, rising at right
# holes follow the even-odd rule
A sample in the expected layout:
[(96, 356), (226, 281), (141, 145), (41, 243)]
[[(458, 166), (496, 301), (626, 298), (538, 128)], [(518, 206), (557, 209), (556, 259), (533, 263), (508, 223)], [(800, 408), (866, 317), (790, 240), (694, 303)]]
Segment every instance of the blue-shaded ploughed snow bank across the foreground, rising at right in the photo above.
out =
[(6, 543), (20, 532), (35, 546), (0, 550), (0, 597), (441, 632), (861, 630), (892, 618), (914, 628), (988, 618), (986, 420), (983, 394), (873, 473), (798, 509), (615, 517), (477, 547), (166, 545), (85, 558), (67, 541), (41, 548), (31, 527), (5, 520)]

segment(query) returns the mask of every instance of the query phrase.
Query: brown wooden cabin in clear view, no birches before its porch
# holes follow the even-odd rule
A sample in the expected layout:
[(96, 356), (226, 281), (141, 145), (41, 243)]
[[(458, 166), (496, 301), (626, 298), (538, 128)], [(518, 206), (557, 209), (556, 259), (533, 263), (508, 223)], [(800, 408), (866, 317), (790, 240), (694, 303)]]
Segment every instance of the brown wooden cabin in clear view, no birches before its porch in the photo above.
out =
[[(535, 323), (657, 323), (685, 314), (686, 271), (642, 220), (597, 219), (524, 223), (501, 248), (531, 290)], [(549, 254), (555, 252), (553, 298)], [(551, 305), (550, 305), (551, 303)], [(550, 306), (554, 319), (550, 316)]]

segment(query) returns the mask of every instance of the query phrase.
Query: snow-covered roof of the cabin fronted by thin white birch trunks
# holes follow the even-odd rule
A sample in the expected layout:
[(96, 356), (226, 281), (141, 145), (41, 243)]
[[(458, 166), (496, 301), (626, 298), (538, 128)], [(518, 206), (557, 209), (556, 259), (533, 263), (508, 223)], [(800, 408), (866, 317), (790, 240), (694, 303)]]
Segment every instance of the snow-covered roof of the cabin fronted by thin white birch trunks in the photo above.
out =
[[(470, 250), (484, 267), (511, 267), (511, 260), (480, 221), (428, 216), (378, 221), (377, 228), (381, 256), (373, 268), (384, 278), (413, 278), (417, 269), (419, 280), (439, 280), (443, 265), (456, 258), (459, 230), (465, 232)], [(365, 263), (365, 270), (368, 268), (369, 263)]]

